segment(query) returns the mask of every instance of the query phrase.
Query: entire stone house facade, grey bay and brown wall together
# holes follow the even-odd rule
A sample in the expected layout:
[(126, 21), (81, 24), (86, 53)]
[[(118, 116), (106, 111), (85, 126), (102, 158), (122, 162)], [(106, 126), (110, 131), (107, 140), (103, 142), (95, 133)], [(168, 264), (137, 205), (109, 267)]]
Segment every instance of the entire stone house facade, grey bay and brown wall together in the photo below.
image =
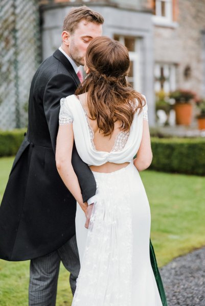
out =
[(129, 81), (147, 97), (150, 125), (154, 92), (183, 88), (205, 97), (205, 1), (41, 0), (43, 59), (58, 48), (67, 11), (83, 4), (104, 16), (103, 35), (128, 47)]

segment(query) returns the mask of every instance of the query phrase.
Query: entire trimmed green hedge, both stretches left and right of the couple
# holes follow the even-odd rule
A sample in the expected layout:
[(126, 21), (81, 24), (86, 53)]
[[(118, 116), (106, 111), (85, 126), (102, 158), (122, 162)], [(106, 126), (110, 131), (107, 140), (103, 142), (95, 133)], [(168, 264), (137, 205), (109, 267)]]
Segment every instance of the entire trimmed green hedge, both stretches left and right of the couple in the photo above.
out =
[[(0, 131), (0, 156), (15, 155), (26, 129)], [(151, 137), (153, 160), (149, 169), (205, 175), (204, 138)]]

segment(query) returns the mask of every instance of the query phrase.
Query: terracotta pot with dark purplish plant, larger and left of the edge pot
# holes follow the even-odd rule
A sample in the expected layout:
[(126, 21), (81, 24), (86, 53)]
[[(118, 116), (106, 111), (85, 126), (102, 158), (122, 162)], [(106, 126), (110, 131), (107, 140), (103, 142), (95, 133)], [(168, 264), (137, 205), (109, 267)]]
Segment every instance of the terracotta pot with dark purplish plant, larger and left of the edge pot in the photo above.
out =
[(170, 98), (175, 100), (176, 124), (190, 125), (192, 119), (193, 101), (196, 93), (192, 90), (177, 89), (170, 93)]

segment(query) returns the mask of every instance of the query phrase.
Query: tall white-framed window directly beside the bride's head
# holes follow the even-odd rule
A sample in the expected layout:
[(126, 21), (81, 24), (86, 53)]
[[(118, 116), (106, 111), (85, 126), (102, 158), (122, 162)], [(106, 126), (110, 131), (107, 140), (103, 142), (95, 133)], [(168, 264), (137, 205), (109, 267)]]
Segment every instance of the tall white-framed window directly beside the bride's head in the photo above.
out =
[(113, 38), (123, 43), (129, 50), (130, 70), (127, 80), (135, 90), (141, 91), (141, 82), (140, 82), (141, 39), (133, 36), (122, 36), (118, 34), (115, 34)]

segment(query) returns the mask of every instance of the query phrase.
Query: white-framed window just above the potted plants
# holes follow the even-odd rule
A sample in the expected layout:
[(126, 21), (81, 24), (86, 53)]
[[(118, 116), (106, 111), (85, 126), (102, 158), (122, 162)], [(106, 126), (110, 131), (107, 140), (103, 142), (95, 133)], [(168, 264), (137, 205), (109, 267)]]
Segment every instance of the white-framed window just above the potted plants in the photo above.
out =
[(155, 63), (154, 90), (168, 93), (176, 89), (176, 65)]

